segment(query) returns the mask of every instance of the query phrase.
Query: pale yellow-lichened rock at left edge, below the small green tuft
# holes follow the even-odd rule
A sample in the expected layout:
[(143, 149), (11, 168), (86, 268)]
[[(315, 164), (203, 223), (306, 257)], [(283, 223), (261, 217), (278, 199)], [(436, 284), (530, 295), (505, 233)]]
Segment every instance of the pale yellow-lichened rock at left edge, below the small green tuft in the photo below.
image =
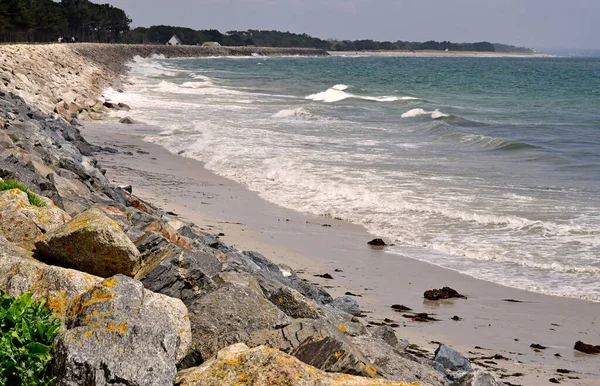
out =
[(49, 199), (40, 199), (46, 206), (31, 205), (27, 193), (19, 189), (0, 192), (0, 234), (8, 241), (32, 250), (35, 240), (43, 233), (53, 231), (71, 219)]

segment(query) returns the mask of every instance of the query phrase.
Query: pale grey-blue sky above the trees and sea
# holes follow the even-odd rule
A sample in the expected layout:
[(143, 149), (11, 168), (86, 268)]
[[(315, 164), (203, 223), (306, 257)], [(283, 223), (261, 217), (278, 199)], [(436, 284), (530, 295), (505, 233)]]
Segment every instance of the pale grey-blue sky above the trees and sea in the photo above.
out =
[(108, 2), (124, 9), (134, 27), (274, 29), (322, 39), (490, 41), (530, 48), (600, 49), (600, 0)]

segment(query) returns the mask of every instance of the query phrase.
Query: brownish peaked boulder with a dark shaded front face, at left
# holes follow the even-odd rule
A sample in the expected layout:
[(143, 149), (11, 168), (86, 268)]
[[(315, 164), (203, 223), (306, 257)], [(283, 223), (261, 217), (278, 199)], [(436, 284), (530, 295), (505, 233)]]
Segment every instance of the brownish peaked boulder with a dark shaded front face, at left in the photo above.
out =
[(140, 253), (119, 225), (97, 208), (43, 235), (35, 246), (49, 260), (101, 277), (133, 276), (141, 262)]

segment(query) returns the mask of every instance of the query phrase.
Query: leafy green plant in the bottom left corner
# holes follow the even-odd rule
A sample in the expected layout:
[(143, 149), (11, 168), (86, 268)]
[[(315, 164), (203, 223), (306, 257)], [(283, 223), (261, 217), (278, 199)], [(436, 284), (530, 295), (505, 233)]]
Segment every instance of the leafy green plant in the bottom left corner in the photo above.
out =
[(31, 293), (11, 298), (0, 291), (0, 385), (54, 384), (48, 367), (60, 321)]

